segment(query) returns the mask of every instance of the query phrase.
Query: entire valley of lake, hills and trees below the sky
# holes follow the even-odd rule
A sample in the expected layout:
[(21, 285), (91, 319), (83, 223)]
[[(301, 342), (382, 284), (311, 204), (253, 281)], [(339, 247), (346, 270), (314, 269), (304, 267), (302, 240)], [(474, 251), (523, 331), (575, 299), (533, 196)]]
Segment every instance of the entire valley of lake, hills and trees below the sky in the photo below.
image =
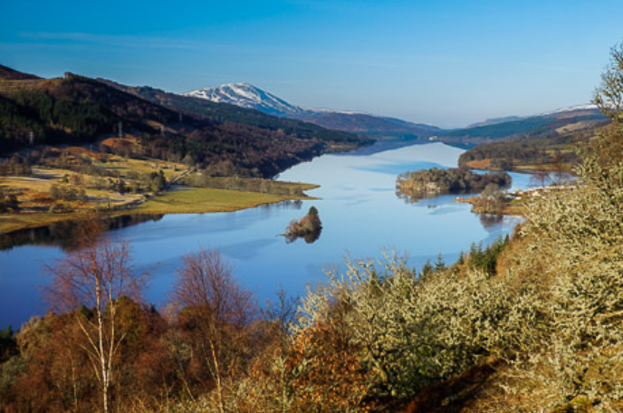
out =
[(620, 407), (583, 376), (620, 370), (618, 112), (440, 130), (0, 69), (0, 408)]

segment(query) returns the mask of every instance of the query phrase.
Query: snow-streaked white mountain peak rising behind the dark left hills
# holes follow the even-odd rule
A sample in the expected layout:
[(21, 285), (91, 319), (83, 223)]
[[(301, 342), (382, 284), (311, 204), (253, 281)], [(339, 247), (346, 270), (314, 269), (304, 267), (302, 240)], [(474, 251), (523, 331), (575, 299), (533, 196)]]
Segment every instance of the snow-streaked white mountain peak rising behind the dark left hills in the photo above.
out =
[(228, 83), (213, 88), (189, 91), (184, 95), (260, 110), (277, 116), (293, 116), (307, 112), (249, 83)]

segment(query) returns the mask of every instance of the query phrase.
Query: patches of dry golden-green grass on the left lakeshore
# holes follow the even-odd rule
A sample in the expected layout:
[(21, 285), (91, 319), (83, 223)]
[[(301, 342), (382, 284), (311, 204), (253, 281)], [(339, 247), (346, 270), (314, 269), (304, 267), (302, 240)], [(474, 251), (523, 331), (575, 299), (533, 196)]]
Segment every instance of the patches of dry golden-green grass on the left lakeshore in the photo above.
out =
[[(120, 144), (119, 141), (131, 144), (131, 139), (107, 139), (110, 145)], [(70, 147), (63, 150), (72, 155), (91, 158), (96, 168), (114, 170), (121, 176), (129, 175), (129, 172), (139, 175), (149, 175), (152, 172), (162, 170), (170, 182), (180, 175), (187, 173), (187, 167), (174, 162), (158, 159), (133, 159), (122, 158), (116, 155), (95, 152), (82, 147)], [(105, 156), (106, 162), (102, 156)], [(92, 177), (68, 169), (34, 167), (31, 177), (0, 177), (0, 187), (6, 192), (14, 194), (19, 203), (19, 213), (9, 213), (0, 216), (0, 233), (15, 231), (22, 228), (46, 226), (53, 222), (71, 219), (76, 215), (93, 210), (114, 210), (128, 208), (127, 210), (141, 213), (160, 214), (183, 214), (226, 212), (254, 207), (262, 204), (280, 202), (286, 199), (298, 199), (302, 197), (278, 196), (259, 192), (245, 192), (237, 190), (213, 189), (213, 188), (188, 188), (176, 187), (175, 190), (167, 191), (155, 197), (149, 198), (143, 203), (143, 195), (120, 194), (113, 189), (94, 189), (99, 185), (108, 186), (118, 178), (110, 175), (106, 177)], [(225, 179), (225, 178), (224, 178)], [(131, 180), (125, 179), (127, 183)], [(96, 185), (99, 181), (99, 185)], [(68, 182), (80, 182), (80, 186), (72, 186)], [(289, 193), (289, 189), (307, 190), (314, 187), (311, 184), (292, 182), (272, 182), (273, 187)], [(53, 186), (73, 187), (84, 190), (84, 199), (70, 201), (54, 200), (50, 196)], [(294, 191), (292, 191), (294, 192)], [(61, 213), (50, 212), (53, 206), (61, 209)]]

